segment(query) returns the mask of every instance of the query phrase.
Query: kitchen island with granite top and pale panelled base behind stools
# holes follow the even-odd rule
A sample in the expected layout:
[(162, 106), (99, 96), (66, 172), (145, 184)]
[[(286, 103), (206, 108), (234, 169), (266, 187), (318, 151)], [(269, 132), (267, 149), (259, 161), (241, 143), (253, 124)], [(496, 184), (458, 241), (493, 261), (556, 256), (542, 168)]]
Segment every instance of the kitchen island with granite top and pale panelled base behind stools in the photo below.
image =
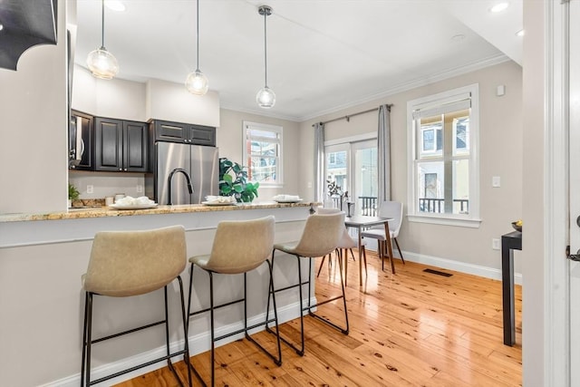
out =
[[(11, 386), (79, 385), (82, 353), (82, 310), (84, 294), (81, 276), (85, 273), (92, 237), (101, 230), (136, 230), (171, 225), (186, 229), (188, 256), (211, 250), (218, 222), (232, 219), (275, 217), (275, 242), (298, 239), (304, 220), (317, 203), (274, 202), (236, 206), (158, 206), (150, 209), (115, 210), (79, 208), (63, 212), (0, 215), (0, 374)], [(297, 281), (295, 259), (280, 260), (275, 266), (276, 287)], [(306, 270), (304, 268), (304, 270)], [(307, 272), (303, 273), (303, 276)], [(189, 288), (189, 265), (182, 273)], [(248, 274), (249, 323), (264, 318), (267, 297), (267, 267)], [(208, 306), (208, 275), (196, 270), (192, 310)], [(226, 302), (242, 292), (242, 276), (216, 277), (216, 302)], [(297, 289), (276, 295), (280, 322), (299, 316)], [(169, 288), (172, 345), (183, 345), (179, 336), (179, 290)], [(127, 299), (99, 297), (95, 308), (96, 337), (137, 324), (157, 321), (162, 310), (162, 292)], [(315, 300), (313, 299), (313, 302)], [(231, 305), (216, 315), (217, 331), (237, 330), (243, 318), (241, 305)], [(191, 355), (208, 351), (208, 316), (192, 318), (189, 324)], [(115, 372), (143, 359), (158, 357), (164, 351), (162, 327), (96, 344), (93, 374)], [(236, 336), (231, 340), (237, 339)], [(225, 342), (224, 342), (225, 343)], [(223, 343), (220, 343), (223, 344)], [(30, 353), (42, 359), (30, 372)], [(137, 355), (136, 355), (137, 353)], [(126, 380), (149, 372), (162, 364), (124, 375)], [(106, 371), (105, 371), (106, 370)], [(113, 381), (114, 382), (114, 381)]]

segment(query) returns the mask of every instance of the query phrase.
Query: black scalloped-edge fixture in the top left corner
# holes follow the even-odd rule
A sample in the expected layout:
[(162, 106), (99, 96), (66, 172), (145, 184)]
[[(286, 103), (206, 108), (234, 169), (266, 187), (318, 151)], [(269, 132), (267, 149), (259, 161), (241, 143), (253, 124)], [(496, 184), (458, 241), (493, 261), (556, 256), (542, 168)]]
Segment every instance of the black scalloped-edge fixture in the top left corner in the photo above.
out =
[(36, 44), (56, 44), (58, 0), (0, 1), (0, 68), (16, 70), (20, 55)]

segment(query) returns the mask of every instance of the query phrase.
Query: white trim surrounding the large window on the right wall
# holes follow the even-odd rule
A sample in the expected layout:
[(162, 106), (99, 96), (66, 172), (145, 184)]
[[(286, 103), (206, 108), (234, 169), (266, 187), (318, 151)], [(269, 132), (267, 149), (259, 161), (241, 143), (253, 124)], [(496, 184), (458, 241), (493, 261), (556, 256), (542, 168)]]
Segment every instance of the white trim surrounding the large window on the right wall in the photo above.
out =
[[(453, 102), (461, 95), (470, 94), (471, 111), (469, 113), (469, 214), (431, 214), (417, 211), (417, 179), (415, 176), (415, 159), (417, 156), (416, 136), (413, 111), (436, 107), (445, 102)], [(448, 92), (440, 92), (427, 97), (407, 102), (407, 218), (411, 222), (431, 223), (457, 227), (479, 227), (479, 85), (478, 83), (460, 87)]]

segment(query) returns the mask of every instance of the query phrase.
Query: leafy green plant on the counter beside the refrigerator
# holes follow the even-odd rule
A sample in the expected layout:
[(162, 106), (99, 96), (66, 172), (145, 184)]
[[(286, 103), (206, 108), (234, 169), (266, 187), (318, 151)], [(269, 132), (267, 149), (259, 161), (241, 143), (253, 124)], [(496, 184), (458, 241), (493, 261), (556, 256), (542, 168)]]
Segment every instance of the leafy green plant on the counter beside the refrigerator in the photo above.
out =
[(233, 196), (238, 203), (250, 203), (257, 198), (259, 187), (259, 182), (247, 181), (246, 167), (227, 158), (219, 159), (219, 195)]

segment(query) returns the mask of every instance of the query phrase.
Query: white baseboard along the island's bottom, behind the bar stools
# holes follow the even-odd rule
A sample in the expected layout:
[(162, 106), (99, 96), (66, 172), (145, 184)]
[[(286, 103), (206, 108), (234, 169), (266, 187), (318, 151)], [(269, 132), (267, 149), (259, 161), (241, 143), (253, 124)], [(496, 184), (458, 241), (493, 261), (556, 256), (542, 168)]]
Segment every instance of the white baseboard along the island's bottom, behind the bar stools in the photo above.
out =
[[(316, 304), (315, 297), (311, 298), (311, 303), (313, 305)], [(278, 308), (278, 323), (283, 324), (287, 321), (294, 320), (296, 317), (299, 317), (300, 314), (298, 312), (298, 308), (299, 308), (298, 303), (289, 304), (289, 305), (285, 305), (283, 307)], [(313, 309), (315, 310), (315, 308), (313, 308)], [(272, 311), (270, 312), (270, 316), (272, 316), (272, 317), (274, 316)], [(266, 319), (266, 313), (257, 314), (255, 316), (248, 318), (247, 324), (248, 325), (258, 324), (258, 323), (263, 322), (265, 319)], [(243, 329), (243, 328), (244, 328), (244, 323), (242, 321), (237, 322), (235, 324), (220, 326), (218, 329), (216, 329), (216, 336), (227, 334), (228, 332), (235, 332), (235, 331)], [(262, 325), (260, 327), (257, 327), (255, 330), (252, 330), (251, 333), (264, 331), (265, 329), (266, 329), (265, 326)], [(243, 337), (244, 337), (244, 333), (236, 334), (236, 335), (227, 337), (223, 340), (220, 340), (218, 343), (216, 343), (216, 346), (221, 346), (221, 345), (224, 345), (227, 343), (231, 343), (231, 342), (234, 342), (234, 341), (236, 341), (240, 338), (243, 338)], [(179, 350), (181, 350), (183, 348), (183, 339), (176, 341), (176, 342), (173, 342), (173, 343), (170, 343), (169, 348), (170, 348), (171, 353), (178, 352)], [(189, 336), (189, 355), (190, 356), (195, 356), (198, 353), (207, 352), (207, 351), (209, 351), (210, 348), (211, 348), (211, 335), (209, 334), (209, 332), (204, 332), (202, 334)], [(135, 365), (150, 362), (154, 359), (158, 359), (160, 357), (165, 356), (165, 353), (166, 353), (166, 350), (165, 350), (165, 346), (163, 345), (163, 346), (160, 346), (156, 349), (153, 349), (153, 350), (150, 350), (150, 351), (147, 351), (144, 353), (139, 353), (139, 354), (136, 354), (134, 356), (122, 359), (118, 362), (107, 363), (107, 364), (100, 365), (98, 367), (94, 367), (92, 369), (92, 372), (91, 372), (91, 379), (97, 380), (97, 379), (102, 378), (106, 375), (111, 375), (112, 373), (115, 373), (115, 372), (127, 370)], [(182, 358), (179, 356), (176, 356), (175, 358), (173, 358), (171, 360), (173, 362), (179, 362), (182, 360)], [(144, 373), (155, 371), (157, 369), (163, 368), (166, 366), (166, 364), (167, 363), (165, 363), (165, 362), (151, 364), (147, 367), (140, 368), (139, 370), (136, 370), (133, 372), (125, 373), (124, 375), (118, 376), (118, 377), (110, 379), (106, 382), (102, 382), (102, 383), (95, 384), (95, 385), (96, 386), (105, 386), (105, 385), (109, 386), (111, 384), (125, 382), (125, 381), (128, 381), (134, 377), (142, 375)], [(79, 358), (79, 367), (80, 366), (81, 366), (81, 359)], [(43, 384), (39, 387), (77, 387), (80, 384), (81, 384), (81, 373), (79, 372), (79, 373), (76, 373), (74, 375), (67, 376), (63, 379), (59, 379), (59, 380), (54, 381), (54, 382), (48, 382), (48, 383)]]

